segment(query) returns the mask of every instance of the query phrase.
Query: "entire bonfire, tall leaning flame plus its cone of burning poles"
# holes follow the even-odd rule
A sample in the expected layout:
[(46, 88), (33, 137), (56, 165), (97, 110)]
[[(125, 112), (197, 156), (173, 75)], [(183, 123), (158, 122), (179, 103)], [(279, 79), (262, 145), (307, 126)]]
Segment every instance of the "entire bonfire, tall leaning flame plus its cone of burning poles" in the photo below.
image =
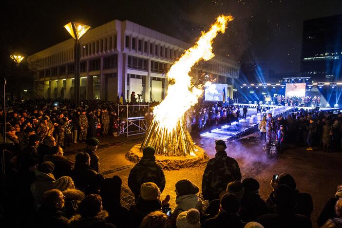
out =
[(190, 134), (184, 127), (184, 114), (198, 102), (203, 94), (202, 86), (191, 86), (189, 73), (199, 60), (208, 61), (214, 57), (212, 42), (219, 32), (224, 33), (232, 16), (221, 15), (211, 25), (208, 32), (202, 32), (195, 45), (176, 61), (167, 73), (172, 83), (165, 99), (154, 108), (154, 118), (145, 135), (142, 148), (153, 146), (157, 154), (195, 155), (196, 151)]

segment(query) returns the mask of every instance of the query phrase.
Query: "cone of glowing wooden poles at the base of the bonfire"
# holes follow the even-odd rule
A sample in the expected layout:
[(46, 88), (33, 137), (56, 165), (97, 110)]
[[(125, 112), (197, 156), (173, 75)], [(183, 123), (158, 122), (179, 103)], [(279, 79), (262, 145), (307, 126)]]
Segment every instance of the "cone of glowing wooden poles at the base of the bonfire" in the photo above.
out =
[(190, 133), (186, 129), (184, 117), (178, 122), (172, 132), (168, 132), (160, 123), (153, 119), (145, 135), (141, 149), (152, 146), (157, 155), (165, 156), (195, 156), (196, 148)]

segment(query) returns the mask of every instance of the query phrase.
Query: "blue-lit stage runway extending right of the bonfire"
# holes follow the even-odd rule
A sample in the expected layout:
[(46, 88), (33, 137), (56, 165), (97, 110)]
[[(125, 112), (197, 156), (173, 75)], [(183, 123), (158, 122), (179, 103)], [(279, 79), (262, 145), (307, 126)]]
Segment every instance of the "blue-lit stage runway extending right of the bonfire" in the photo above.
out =
[[(211, 132), (201, 133), (201, 137), (211, 138), (215, 140), (223, 140), (228, 142), (230, 140), (242, 137), (247, 135), (248, 133), (252, 133), (254, 130), (258, 128), (258, 124), (262, 119), (262, 116), (267, 113), (272, 113), (274, 118), (277, 118), (280, 115), (287, 115), (291, 112), (294, 112), (297, 108), (302, 107), (286, 107), (286, 106), (266, 106), (269, 107), (269, 110), (266, 112), (262, 112), (261, 114), (256, 113), (256, 105), (251, 104), (234, 104), (238, 106), (247, 106), (247, 118), (239, 119), (237, 122), (232, 122), (230, 125), (223, 125), (221, 128), (215, 128), (211, 130)], [(255, 107), (254, 107), (255, 106)], [(263, 108), (263, 107), (262, 107)], [(311, 107), (303, 107), (305, 109), (313, 109)], [(241, 110), (242, 114), (242, 110)]]

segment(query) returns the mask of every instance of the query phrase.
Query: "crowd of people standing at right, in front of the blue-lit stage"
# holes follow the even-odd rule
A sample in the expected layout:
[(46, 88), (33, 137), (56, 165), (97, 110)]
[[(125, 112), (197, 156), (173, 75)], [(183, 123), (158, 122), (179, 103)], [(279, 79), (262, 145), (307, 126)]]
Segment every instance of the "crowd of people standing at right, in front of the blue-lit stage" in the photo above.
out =
[(305, 111), (291, 113), (287, 117), (273, 118), (271, 113), (259, 123), (263, 148), (276, 144), (285, 149), (286, 143), (323, 148), (323, 152), (340, 151), (342, 139), (342, 114), (340, 112)]

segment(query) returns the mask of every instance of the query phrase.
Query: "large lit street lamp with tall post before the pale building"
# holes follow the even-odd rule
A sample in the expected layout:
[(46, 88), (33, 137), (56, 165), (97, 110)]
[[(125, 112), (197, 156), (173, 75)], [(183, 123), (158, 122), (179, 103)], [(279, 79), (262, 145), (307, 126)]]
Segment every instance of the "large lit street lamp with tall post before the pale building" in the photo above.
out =
[(81, 24), (75, 21), (71, 21), (64, 25), (64, 28), (69, 32), (69, 34), (75, 39), (75, 79), (74, 79), (74, 89), (75, 89), (75, 105), (80, 103), (80, 58), (81, 58), (81, 43), (80, 38), (91, 28), (89, 25)]

